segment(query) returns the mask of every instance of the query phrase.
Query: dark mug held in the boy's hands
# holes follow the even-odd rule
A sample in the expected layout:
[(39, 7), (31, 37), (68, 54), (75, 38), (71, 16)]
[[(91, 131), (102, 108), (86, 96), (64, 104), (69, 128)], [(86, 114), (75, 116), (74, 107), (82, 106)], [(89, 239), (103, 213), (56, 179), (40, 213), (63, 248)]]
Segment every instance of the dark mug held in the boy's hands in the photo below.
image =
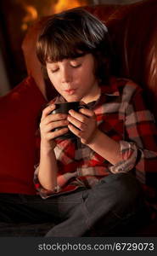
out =
[[(56, 106), (56, 108), (51, 112), (52, 114), (53, 113), (67, 113), (68, 114), (70, 109), (73, 109), (76, 112), (78, 112), (79, 109), (81, 109), (81, 108), (87, 108), (87, 105), (83, 105), (83, 104), (81, 104), (81, 102), (55, 103), (55, 106)], [(64, 126), (64, 127), (67, 127), (67, 126)], [(62, 127), (55, 128), (54, 131), (58, 131), (64, 127), (62, 126)], [(57, 138), (59, 138), (59, 139), (67, 139), (67, 138), (74, 139), (74, 138), (76, 138), (76, 135), (73, 132), (68, 131)]]

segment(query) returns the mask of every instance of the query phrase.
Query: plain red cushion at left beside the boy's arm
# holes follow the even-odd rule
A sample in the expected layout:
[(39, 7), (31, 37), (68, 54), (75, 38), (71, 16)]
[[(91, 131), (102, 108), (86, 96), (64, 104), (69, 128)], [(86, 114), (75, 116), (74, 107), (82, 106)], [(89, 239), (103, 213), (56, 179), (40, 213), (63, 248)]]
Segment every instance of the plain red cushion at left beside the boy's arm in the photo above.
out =
[(0, 192), (35, 194), (36, 116), (45, 103), (32, 78), (0, 98)]

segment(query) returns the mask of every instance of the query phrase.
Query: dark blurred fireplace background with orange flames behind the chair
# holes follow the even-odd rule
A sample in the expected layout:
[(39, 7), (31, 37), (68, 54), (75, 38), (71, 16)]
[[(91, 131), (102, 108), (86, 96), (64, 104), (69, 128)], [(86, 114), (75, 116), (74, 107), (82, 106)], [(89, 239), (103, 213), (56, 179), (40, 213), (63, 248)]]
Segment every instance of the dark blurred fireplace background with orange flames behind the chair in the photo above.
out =
[(142, 0), (1, 0), (0, 1), (0, 96), (27, 76), (21, 49), (29, 26), (45, 15), (64, 9), (102, 3), (129, 4)]

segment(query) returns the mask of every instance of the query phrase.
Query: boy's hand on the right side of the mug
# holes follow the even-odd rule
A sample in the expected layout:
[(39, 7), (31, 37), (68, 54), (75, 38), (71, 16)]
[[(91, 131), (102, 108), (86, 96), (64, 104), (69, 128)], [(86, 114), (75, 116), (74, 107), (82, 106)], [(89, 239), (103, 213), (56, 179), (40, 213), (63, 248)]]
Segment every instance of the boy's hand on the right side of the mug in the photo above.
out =
[(68, 127), (70, 131), (80, 137), (81, 143), (91, 143), (98, 131), (95, 113), (87, 108), (81, 108), (79, 113), (70, 109), (69, 113), (68, 120), (70, 124)]

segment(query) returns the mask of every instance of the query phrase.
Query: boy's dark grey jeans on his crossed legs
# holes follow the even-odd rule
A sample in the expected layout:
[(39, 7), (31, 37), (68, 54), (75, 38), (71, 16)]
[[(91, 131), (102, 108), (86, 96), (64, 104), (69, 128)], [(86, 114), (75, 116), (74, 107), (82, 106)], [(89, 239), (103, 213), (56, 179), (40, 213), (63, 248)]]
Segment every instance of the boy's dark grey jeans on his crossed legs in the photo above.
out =
[[(36, 225), (40, 230), (44, 223), (43, 236), (132, 236), (132, 227), (144, 224), (147, 218), (142, 189), (130, 173), (110, 174), (92, 189), (78, 189), (45, 200), (39, 195), (0, 195), (1, 236), (9, 236), (5, 225), (13, 224), (14, 236), (33, 236), (33, 227), (37, 236)], [(25, 230), (26, 223), (31, 224), (31, 233)]]

